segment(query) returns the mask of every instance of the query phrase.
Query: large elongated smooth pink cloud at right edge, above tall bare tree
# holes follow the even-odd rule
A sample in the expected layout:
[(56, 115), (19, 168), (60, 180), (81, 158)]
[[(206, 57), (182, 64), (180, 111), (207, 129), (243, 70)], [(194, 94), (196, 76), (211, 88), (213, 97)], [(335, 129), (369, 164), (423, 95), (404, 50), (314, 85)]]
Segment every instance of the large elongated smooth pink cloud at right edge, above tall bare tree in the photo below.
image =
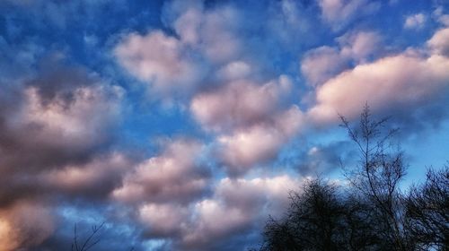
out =
[(365, 102), (380, 111), (418, 108), (440, 100), (449, 81), (446, 31), (438, 30), (428, 40), (428, 56), (414, 51), (385, 56), (324, 82), (316, 91), (317, 104), (308, 114), (318, 123), (326, 123), (338, 119), (338, 113), (355, 117)]

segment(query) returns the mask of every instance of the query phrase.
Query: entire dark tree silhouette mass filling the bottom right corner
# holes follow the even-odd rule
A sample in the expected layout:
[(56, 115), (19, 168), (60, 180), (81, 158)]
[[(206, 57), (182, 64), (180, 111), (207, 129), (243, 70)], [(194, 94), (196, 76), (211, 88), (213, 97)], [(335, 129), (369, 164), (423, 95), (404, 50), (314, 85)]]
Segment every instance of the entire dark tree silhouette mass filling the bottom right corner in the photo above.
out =
[(396, 129), (375, 120), (366, 105), (357, 126), (342, 125), (357, 146), (356, 167), (344, 167), (347, 186), (309, 180), (290, 193), (281, 219), (270, 217), (260, 250), (449, 250), (449, 172), (428, 170), (409, 194)]

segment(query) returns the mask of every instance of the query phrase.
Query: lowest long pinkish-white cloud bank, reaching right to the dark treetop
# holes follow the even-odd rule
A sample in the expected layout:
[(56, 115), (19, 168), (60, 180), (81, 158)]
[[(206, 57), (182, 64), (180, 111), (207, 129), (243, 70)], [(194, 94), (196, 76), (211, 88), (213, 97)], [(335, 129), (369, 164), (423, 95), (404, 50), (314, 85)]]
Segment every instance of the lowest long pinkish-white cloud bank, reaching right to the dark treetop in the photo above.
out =
[(260, 228), (269, 214), (277, 216), (288, 204), (287, 192), (298, 181), (287, 176), (223, 178), (210, 197), (189, 205), (146, 203), (139, 220), (149, 236), (167, 238), (183, 250), (217, 249), (222, 241)]

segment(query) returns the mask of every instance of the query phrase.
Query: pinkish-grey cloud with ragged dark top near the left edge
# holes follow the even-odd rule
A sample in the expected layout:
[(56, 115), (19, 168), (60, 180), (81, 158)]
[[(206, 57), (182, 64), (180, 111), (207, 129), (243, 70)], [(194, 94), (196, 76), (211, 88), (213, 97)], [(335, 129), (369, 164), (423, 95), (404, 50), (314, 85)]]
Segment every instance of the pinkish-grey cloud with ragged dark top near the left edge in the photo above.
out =
[[(24, 104), (9, 121), (15, 130), (31, 130), (27, 140), (55, 147), (86, 148), (102, 142), (106, 127), (118, 119), (123, 91), (106, 86), (80, 87), (66, 100), (58, 93), (44, 100), (39, 89), (24, 91)], [(20, 132), (17, 132), (20, 133)]]

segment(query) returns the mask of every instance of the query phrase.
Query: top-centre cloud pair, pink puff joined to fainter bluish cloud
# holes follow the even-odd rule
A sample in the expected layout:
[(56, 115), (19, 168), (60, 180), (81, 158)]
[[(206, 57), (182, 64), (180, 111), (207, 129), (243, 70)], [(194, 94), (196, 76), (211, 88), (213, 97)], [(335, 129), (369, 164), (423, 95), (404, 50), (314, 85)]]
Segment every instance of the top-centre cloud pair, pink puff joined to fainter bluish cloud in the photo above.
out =
[(177, 36), (163, 30), (126, 34), (114, 54), (154, 93), (189, 96), (204, 84), (208, 68), (239, 56), (236, 18), (231, 7), (206, 11), (202, 1), (172, 1), (164, 5), (163, 21)]

